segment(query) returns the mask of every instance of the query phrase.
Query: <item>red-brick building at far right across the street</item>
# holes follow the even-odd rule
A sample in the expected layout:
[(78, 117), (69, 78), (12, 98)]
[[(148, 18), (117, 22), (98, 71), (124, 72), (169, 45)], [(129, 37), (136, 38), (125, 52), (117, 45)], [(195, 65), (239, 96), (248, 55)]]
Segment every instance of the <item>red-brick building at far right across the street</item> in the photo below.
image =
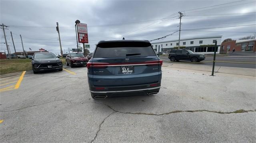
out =
[(247, 40), (233, 40), (222, 42), (220, 45), (220, 52), (228, 52), (235, 49), (236, 51), (252, 51), (256, 52), (256, 39), (247, 39)]

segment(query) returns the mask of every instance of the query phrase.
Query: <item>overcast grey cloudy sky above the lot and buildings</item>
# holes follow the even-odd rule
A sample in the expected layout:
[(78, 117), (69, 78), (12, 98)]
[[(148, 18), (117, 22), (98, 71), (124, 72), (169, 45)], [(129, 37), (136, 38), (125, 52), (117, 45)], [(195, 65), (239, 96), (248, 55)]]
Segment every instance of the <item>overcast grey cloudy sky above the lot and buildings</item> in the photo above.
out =
[[(256, 31), (256, 25), (252, 25), (256, 24), (256, 0), (0, 0), (0, 24), (9, 26), (6, 37), (12, 53), (10, 31), (16, 51), (22, 51), (21, 34), (25, 51), (44, 48), (60, 54), (56, 22), (60, 26), (63, 52), (76, 48), (76, 20), (88, 25), (90, 51), (93, 51), (100, 40), (122, 37), (152, 40), (173, 33), (179, 29), (179, 11), (185, 14), (181, 29), (196, 29), (181, 31), (181, 39), (222, 35), (223, 41), (253, 35), (245, 32)], [(209, 27), (224, 28), (198, 29)], [(3, 51), (6, 45), (2, 29), (0, 33)], [(178, 35), (176, 32), (158, 41), (178, 39)]]

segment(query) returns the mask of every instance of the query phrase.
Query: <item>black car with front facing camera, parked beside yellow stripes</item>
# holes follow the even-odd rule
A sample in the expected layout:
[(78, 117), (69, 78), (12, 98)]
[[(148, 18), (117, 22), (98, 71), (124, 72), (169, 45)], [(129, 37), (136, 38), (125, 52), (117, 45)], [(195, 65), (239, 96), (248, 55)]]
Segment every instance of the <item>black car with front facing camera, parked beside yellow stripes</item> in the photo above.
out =
[(30, 59), (32, 59), (34, 74), (48, 70), (62, 71), (62, 62), (53, 53), (34, 53)]

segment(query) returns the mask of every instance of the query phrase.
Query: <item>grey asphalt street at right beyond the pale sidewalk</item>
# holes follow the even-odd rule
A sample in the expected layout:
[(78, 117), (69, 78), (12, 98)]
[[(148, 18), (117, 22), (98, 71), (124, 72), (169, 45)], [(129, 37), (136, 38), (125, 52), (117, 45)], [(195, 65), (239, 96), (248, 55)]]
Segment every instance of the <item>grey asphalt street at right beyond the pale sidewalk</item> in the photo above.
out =
[[(167, 56), (160, 56), (161, 59), (168, 60)], [(206, 56), (206, 59), (202, 62), (205, 61), (213, 61), (212, 56)], [(247, 55), (232, 55), (232, 56), (216, 56), (215, 61), (227, 61), (227, 63), (223, 62), (216, 62), (216, 66), (224, 66), (224, 67), (240, 67), (240, 68), (252, 68), (256, 69), (256, 56), (247, 56)], [(166, 62), (166, 61), (165, 61)], [(182, 63), (190, 63), (190, 61), (179, 61)], [(244, 63), (228, 63), (228, 62), (244, 62)], [(254, 63), (254, 64), (252, 64)], [(200, 65), (212, 65), (212, 62), (210, 63), (198, 63)]]

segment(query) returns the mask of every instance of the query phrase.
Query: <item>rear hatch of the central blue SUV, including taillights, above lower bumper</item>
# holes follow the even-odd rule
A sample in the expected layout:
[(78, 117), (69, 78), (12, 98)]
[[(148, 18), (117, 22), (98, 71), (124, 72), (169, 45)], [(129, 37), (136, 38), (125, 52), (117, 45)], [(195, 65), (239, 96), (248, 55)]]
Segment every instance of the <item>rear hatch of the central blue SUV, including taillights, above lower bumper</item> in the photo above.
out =
[(162, 61), (148, 41), (98, 43), (87, 67), (94, 86), (129, 86), (157, 83)]

